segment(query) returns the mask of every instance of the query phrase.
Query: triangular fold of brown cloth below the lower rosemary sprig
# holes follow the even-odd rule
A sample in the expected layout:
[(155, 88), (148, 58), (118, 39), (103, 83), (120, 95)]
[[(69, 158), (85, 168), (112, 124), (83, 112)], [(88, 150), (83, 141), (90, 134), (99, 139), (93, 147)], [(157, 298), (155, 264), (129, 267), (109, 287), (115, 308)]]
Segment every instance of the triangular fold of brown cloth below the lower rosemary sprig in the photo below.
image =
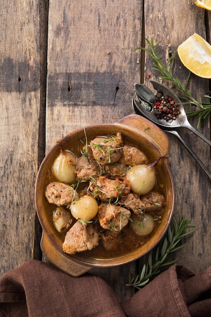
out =
[(189, 317), (181, 287), (183, 285), (179, 285), (176, 266), (172, 266), (139, 290), (130, 300), (121, 303), (122, 309), (130, 317)]

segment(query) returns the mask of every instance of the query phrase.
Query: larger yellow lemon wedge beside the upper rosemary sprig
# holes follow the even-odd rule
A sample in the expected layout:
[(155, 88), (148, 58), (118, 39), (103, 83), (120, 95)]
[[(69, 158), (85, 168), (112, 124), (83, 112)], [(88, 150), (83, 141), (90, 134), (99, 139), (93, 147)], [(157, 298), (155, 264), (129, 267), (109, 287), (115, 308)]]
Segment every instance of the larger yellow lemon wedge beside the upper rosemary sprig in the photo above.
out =
[(211, 46), (194, 33), (178, 46), (181, 62), (195, 75), (211, 78)]

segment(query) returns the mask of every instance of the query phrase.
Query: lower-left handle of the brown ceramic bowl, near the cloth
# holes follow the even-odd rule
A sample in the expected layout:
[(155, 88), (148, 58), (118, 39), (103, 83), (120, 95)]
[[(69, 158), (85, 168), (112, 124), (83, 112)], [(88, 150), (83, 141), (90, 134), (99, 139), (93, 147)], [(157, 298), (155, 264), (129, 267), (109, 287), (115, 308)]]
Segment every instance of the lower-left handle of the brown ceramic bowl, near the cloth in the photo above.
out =
[(92, 269), (92, 267), (90, 266), (81, 265), (74, 262), (73, 260), (71, 261), (70, 258), (67, 257), (67, 255), (61, 254), (52, 245), (51, 241), (48, 238), (48, 235), (45, 232), (43, 232), (40, 246), (47, 259), (69, 275), (77, 277)]

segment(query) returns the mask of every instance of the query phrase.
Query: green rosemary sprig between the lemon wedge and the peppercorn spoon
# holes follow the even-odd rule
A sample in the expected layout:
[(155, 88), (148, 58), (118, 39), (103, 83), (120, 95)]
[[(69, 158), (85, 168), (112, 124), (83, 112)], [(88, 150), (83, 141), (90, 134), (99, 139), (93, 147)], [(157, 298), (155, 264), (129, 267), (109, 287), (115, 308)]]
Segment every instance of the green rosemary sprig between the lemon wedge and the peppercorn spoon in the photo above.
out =
[[(181, 83), (181, 81), (179, 80), (178, 77), (174, 77), (172, 74), (172, 70), (173, 70), (173, 66), (174, 66), (174, 57), (175, 54), (177, 53), (177, 49), (175, 50), (175, 52), (170, 56), (170, 58), (168, 59), (167, 63), (164, 65), (158, 55), (158, 47), (160, 42), (157, 45), (154, 45), (154, 40), (152, 38), (151, 42), (146, 38), (146, 42), (149, 45), (149, 49), (143, 48), (143, 47), (138, 47), (135, 50), (143, 50), (145, 52), (147, 52), (153, 59), (153, 69), (157, 70), (160, 75), (158, 80), (167, 80), (172, 82), (176, 88), (171, 88), (172, 90), (177, 91), (178, 93), (180, 93), (181, 95), (178, 95), (179, 98), (182, 98), (184, 100), (187, 100), (186, 102), (182, 102), (183, 105), (185, 104), (191, 104), (191, 105), (195, 105), (196, 107), (198, 107), (199, 109), (197, 110), (189, 110), (187, 111), (187, 116), (189, 118), (194, 117), (194, 116), (198, 116), (198, 125), (201, 123), (202, 125), (204, 124), (204, 122), (206, 121), (208, 115), (211, 112), (211, 103), (209, 102), (203, 102), (202, 99), (200, 98), (199, 101), (196, 101), (190, 90), (188, 90), (188, 82), (189, 82), (189, 78), (191, 75), (191, 71), (189, 71), (187, 79), (185, 84), (183, 85)], [(210, 94), (211, 92), (207, 92), (207, 94)], [(207, 98), (211, 98), (208, 95), (204, 95), (204, 97)]]

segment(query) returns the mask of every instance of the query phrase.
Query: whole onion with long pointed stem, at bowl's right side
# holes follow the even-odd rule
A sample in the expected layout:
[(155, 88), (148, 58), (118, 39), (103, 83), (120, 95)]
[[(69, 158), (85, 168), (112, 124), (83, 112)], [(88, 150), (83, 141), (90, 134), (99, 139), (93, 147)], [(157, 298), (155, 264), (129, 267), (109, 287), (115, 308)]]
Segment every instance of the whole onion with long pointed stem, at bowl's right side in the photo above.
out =
[(128, 170), (126, 179), (136, 194), (143, 195), (152, 190), (156, 182), (155, 166), (161, 157), (151, 164), (136, 165)]

